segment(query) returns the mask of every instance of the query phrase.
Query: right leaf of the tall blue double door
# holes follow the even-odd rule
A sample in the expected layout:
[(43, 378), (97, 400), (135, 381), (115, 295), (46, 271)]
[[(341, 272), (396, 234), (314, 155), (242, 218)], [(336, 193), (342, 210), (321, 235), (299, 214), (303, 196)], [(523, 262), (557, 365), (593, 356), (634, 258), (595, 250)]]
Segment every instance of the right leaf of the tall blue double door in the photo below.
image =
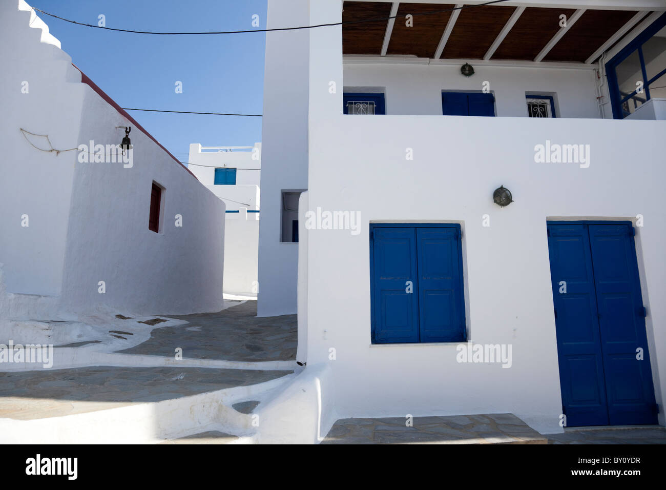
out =
[[(657, 423), (631, 225), (589, 225), (611, 425)], [(643, 360), (637, 359), (643, 349)]]

